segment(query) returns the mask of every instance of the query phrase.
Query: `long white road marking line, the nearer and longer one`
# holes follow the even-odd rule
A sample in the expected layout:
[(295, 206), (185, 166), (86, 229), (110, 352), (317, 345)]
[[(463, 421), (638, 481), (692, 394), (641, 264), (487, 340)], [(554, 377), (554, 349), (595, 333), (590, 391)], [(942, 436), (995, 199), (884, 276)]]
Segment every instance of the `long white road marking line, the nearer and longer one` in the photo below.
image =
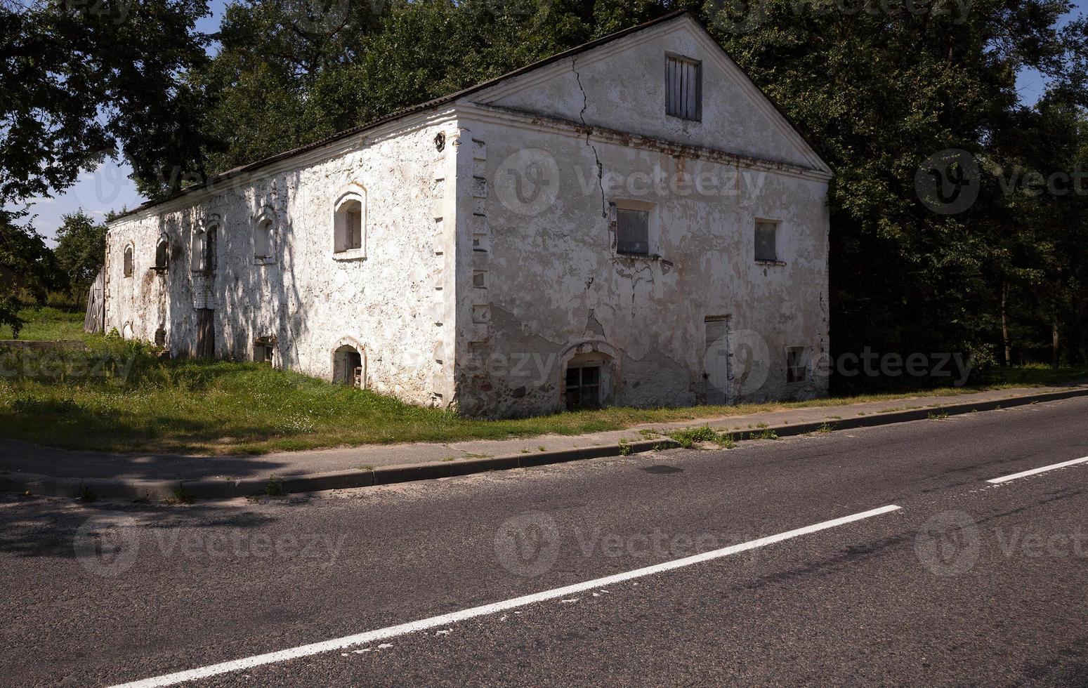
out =
[[(449, 624), (456, 624), (458, 622), (462, 622), (469, 618), (474, 618), (477, 616), (485, 616), (487, 614), (494, 614), (496, 612), (502, 612), (516, 606), (526, 606), (528, 604), (535, 604), (537, 602), (543, 602), (545, 600), (554, 600), (556, 598), (562, 598), (576, 592), (584, 592), (585, 590), (590, 590), (592, 588), (599, 588), (603, 586), (623, 583), (626, 580), (631, 580), (632, 578), (642, 578), (644, 576), (651, 576), (654, 574), (672, 571), (675, 568), (683, 568), (684, 566), (691, 566), (692, 564), (698, 564), (715, 559), (721, 559), (722, 556), (729, 556), (730, 554), (737, 554), (739, 552), (745, 552), (759, 547), (766, 547), (768, 545), (774, 545), (776, 542), (781, 542), (783, 540), (801, 537), (802, 535), (808, 535), (812, 533), (818, 533), (820, 530), (827, 530), (828, 528), (846, 525), (848, 523), (854, 523), (855, 521), (862, 521), (864, 518), (871, 518), (873, 516), (879, 516), (882, 514), (891, 513), (893, 511), (899, 511), (900, 509), (901, 506), (898, 506), (895, 504), (889, 504), (888, 506), (881, 506), (879, 509), (863, 511), (862, 513), (852, 514), (850, 516), (842, 516), (841, 518), (832, 518), (831, 521), (824, 521), (823, 523), (805, 526), (803, 528), (796, 528), (795, 530), (787, 530), (786, 533), (779, 533), (778, 535), (770, 535), (765, 538), (759, 538), (757, 540), (750, 540), (747, 542), (741, 542), (740, 545), (732, 545), (730, 547), (724, 547), (721, 549), (713, 550), (710, 552), (703, 552), (702, 554), (685, 556), (684, 559), (677, 559), (662, 564), (654, 564), (653, 566), (646, 566), (644, 568), (635, 568), (633, 571), (628, 571), (626, 573), (605, 576), (604, 578), (594, 578), (593, 580), (586, 580), (585, 583), (577, 583), (574, 585), (569, 585), (561, 588), (554, 588), (552, 590), (544, 590), (543, 592), (534, 592), (533, 595), (526, 595), (523, 597), (517, 597), (509, 600), (504, 600), (502, 602), (492, 602), (491, 604), (484, 604), (482, 606), (473, 606), (472, 609), (462, 610), (460, 612), (450, 612), (448, 614), (432, 616), (430, 618), (421, 618), (419, 621), (409, 622), (407, 624), (399, 624), (397, 626), (390, 626), (387, 628), (379, 628), (378, 630), (368, 630), (366, 633), (356, 634), (354, 636), (345, 636), (343, 638), (336, 638), (334, 640), (313, 642), (310, 645), (299, 646), (297, 648), (280, 650), (277, 652), (257, 654), (255, 656), (247, 656), (242, 660), (223, 662), (221, 664), (211, 664), (209, 666), (202, 666), (200, 668), (191, 668), (184, 672), (177, 672), (175, 674), (165, 674), (163, 676), (156, 676), (153, 678), (145, 678), (143, 680), (136, 680), (128, 684), (114, 686), (113, 688), (151, 688), (153, 686), (173, 686), (175, 684), (181, 684), (187, 680), (196, 680), (198, 678), (208, 678), (209, 676), (228, 674), (231, 672), (252, 668), (255, 666), (261, 666), (263, 664), (286, 662), (287, 660), (295, 660), (302, 656), (310, 656), (312, 654), (321, 654), (324, 652), (331, 652), (333, 650), (343, 650), (345, 648), (349, 648), (357, 645), (371, 643), (374, 642), (375, 640), (396, 638), (398, 636), (404, 636), (406, 634), (416, 633), (417, 630), (425, 630), (428, 628), (434, 628), (436, 626), (448, 626)], [(515, 613), (520, 614), (520, 612), (515, 612)], [(384, 648), (384, 647), (392, 647), (392, 646), (387, 645), (379, 646), (379, 648)]]

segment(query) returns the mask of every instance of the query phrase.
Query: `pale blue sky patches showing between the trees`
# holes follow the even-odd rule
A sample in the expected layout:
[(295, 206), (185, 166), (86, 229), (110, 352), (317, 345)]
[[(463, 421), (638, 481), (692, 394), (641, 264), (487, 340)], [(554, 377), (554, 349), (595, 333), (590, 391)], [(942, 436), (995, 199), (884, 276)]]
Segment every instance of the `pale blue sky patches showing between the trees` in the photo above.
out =
[[(211, 0), (209, 8), (212, 14), (200, 20), (197, 28), (208, 34), (218, 30), (228, 1)], [(1088, 0), (1074, 0), (1074, 3), (1076, 4), (1074, 15), (1088, 12)], [(1035, 70), (1024, 70), (1017, 75), (1016, 89), (1025, 103), (1035, 103), (1042, 96), (1044, 88), (1046, 77)], [(95, 172), (79, 175), (72, 187), (53, 198), (33, 199), (29, 220), (52, 246), (57, 227), (60, 226), (61, 216), (64, 214), (82, 208), (89, 215), (104, 218), (106, 213), (111, 210), (120, 211), (122, 208), (131, 209), (139, 205), (145, 199), (136, 192), (135, 185), (128, 178), (129, 172), (128, 165), (108, 160)]]

